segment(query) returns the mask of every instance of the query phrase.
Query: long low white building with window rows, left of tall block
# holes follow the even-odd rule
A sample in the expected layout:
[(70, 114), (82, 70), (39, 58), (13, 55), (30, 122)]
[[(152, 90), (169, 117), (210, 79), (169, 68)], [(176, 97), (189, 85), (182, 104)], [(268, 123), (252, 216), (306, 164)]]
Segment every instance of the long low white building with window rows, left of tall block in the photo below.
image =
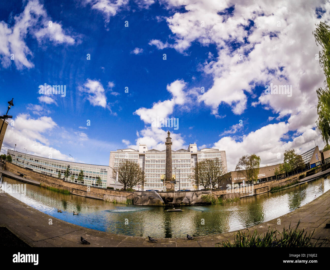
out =
[[(39, 173), (47, 174), (49, 176), (58, 177), (58, 172), (61, 172), (61, 179), (65, 179), (64, 173), (67, 168), (70, 170), (70, 176), (66, 179), (67, 181), (95, 186), (95, 187), (107, 187), (108, 181), (108, 166), (92, 165), (68, 162), (56, 159), (49, 159), (20, 153), (8, 149), (7, 155), (12, 156), (12, 163)], [(78, 175), (80, 170), (83, 171), (83, 180), (78, 182)], [(74, 180), (71, 180), (71, 176), (74, 176)], [(97, 184), (96, 180), (100, 177), (102, 184)]]

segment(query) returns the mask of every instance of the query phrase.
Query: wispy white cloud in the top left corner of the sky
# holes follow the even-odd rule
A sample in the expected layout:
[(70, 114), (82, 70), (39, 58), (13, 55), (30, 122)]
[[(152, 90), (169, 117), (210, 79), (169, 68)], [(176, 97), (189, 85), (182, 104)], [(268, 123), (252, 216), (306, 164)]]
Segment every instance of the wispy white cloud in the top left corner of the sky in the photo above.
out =
[(50, 40), (53, 44), (74, 44), (75, 40), (65, 34), (59, 23), (52, 23), (51, 18), (38, 0), (27, 2), (24, 11), (14, 17), (14, 25), (10, 26), (4, 21), (0, 22), (0, 61), (4, 68), (8, 68), (12, 61), (17, 69), (32, 68), (34, 64), (29, 60), (33, 56), (32, 51), (26, 45), (25, 39), (29, 34), (39, 42)]

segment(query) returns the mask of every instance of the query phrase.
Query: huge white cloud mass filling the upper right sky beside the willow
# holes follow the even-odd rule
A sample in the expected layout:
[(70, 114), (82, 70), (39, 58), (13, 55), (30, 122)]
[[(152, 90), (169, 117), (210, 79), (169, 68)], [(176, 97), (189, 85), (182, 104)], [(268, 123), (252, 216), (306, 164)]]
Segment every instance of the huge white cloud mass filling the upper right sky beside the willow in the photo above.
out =
[[(323, 86), (324, 75), (315, 59), (319, 48), (312, 32), (320, 21), (316, 8), (323, 8), (326, 13), (322, 20), (329, 21), (329, 2), (161, 2), (174, 11), (174, 15), (166, 18), (173, 36), (165, 40), (151, 39), (149, 45), (158, 49), (171, 47), (183, 54), (196, 42), (202, 46), (215, 45), (216, 57), (209, 53), (201, 65), (201, 70), (213, 77), (213, 85), (197, 97), (200, 103), (211, 108), (215, 117), (228, 114), (223, 112), (223, 104), (229, 105), (237, 115), (253, 105), (258, 106), (261, 113), (263, 109), (271, 110), (277, 120), (289, 117), (287, 122), (266, 125), (238, 140), (236, 136), (226, 136), (215, 142), (214, 147), (226, 150), (229, 169), (234, 169), (244, 154), (260, 155), (262, 165), (275, 164), (283, 158), (278, 160), (278, 153), (286, 149), (295, 148), (298, 153), (311, 149), (312, 138), (320, 147), (323, 145), (314, 127), (315, 90)], [(232, 14), (228, 12), (230, 7), (234, 7)], [(234, 43), (238, 46), (233, 47)], [(255, 91), (256, 86), (264, 90), (270, 83), (292, 86), (292, 96), (260, 95)], [(268, 121), (273, 119), (269, 117)], [(233, 134), (236, 130), (234, 125), (221, 135)]]

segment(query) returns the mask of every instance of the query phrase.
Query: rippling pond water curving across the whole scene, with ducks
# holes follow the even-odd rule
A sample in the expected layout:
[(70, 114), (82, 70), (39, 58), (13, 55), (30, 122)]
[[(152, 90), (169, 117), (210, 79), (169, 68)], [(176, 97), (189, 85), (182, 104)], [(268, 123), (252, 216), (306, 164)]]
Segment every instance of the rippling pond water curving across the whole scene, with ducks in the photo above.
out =
[[(2, 189), (22, 182), (3, 177)], [(26, 193), (9, 193), (20, 201), (58, 219), (83, 227), (134, 236), (201, 236), (243, 229), (272, 220), (312, 201), (330, 189), (330, 179), (275, 193), (251, 196), (233, 203), (182, 206), (182, 212), (166, 212), (165, 207), (114, 204), (77, 195), (64, 195), (26, 184)], [(57, 213), (57, 209), (62, 213)], [(79, 212), (78, 216), (73, 211)], [(202, 212), (203, 211), (203, 212)], [(202, 225), (202, 219), (205, 224)], [(126, 224), (125, 224), (126, 223)], [(128, 224), (127, 224), (128, 223)]]

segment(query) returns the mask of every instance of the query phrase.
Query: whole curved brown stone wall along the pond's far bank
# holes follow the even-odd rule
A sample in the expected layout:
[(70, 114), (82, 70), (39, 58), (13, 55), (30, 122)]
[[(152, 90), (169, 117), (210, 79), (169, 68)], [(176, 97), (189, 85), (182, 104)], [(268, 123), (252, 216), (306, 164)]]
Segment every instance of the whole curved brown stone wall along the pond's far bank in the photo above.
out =
[[(49, 175), (45, 175), (42, 173), (38, 173), (35, 171), (31, 171), (20, 166), (17, 166), (13, 163), (7, 162), (5, 164), (6, 170), (9, 170), (13, 173), (17, 173), (17, 171), (24, 174), (24, 177), (30, 178), (42, 183), (42, 186), (54, 187), (57, 189), (66, 189), (69, 190), (71, 194), (80, 195), (89, 198), (95, 199), (103, 199), (105, 201), (116, 201), (120, 203), (126, 203), (126, 198), (133, 199), (134, 196), (134, 204), (136, 205), (165, 205), (165, 204), (173, 204), (173, 205), (192, 205), (192, 204), (202, 204), (205, 203), (203, 201), (203, 195), (210, 195), (211, 192), (209, 190), (206, 191), (187, 191), (187, 192), (142, 192), (136, 191), (134, 192), (126, 192), (126, 191), (116, 191), (110, 189), (102, 189), (96, 187), (89, 187), (65, 181), (63, 179), (58, 179), (56, 177), (52, 177)], [(321, 168), (318, 168), (316, 172), (320, 171)], [(238, 188), (234, 187), (230, 190), (213, 190), (212, 195), (215, 198), (222, 197), (222, 199), (232, 199), (235, 197), (246, 197), (251, 195), (257, 195), (269, 192), (272, 187), (284, 186), (293, 180), (298, 180), (299, 176), (302, 174), (306, 174), (306, 172), (302, 172), (300, 174), (296, 174), (287, 178), (262, 182), (258, 184), (254, 184), (253, 188), (245, 187)]]

